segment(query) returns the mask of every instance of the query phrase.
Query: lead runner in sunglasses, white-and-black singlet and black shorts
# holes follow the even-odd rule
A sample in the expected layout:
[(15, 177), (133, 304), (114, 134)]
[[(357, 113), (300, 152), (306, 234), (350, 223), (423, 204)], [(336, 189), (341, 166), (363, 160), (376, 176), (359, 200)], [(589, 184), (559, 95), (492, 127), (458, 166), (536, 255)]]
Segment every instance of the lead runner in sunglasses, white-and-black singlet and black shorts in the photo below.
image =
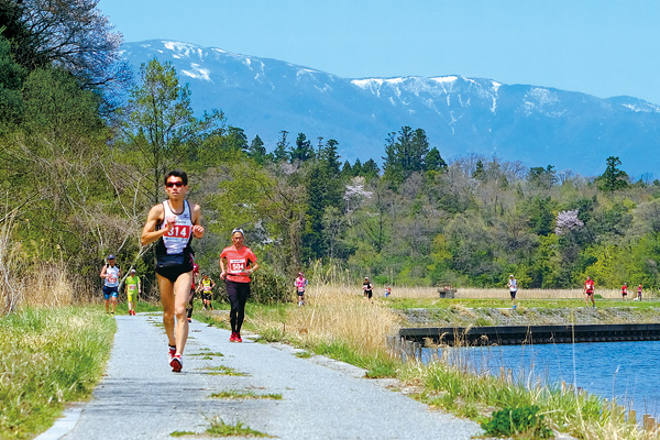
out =
[[(156, 243), (156, 278), (163, 304), (163, 324), (169, 341), (168, 362), (172, 371), (180, 372), (182, 355), (188, 339), (186, 304), (193, 283), (193, 237), (201, 239), (204, 227), (199, 224), (201, 209), (185, 199), (188, 193), (188, 175), (172, 170), (165, 175), (167, 200), (154, 206), (140, 242)], [(176, 331), (175, 331), (176, 316)]]

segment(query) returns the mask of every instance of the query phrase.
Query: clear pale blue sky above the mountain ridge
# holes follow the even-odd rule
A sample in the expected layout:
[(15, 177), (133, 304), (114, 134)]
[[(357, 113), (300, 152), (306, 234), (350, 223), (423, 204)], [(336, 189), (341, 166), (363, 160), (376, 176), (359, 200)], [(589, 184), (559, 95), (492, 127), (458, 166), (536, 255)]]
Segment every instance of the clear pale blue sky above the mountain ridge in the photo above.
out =
[(346, 78), (462, 75), (660, 105), (657, 0), (100, 0), (176, 40)]

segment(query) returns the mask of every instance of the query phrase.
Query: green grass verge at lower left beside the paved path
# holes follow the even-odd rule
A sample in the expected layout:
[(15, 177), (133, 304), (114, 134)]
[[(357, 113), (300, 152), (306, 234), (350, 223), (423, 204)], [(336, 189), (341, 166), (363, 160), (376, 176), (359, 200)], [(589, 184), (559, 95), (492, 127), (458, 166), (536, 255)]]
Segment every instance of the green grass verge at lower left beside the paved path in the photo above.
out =
[(48, 428), (67, 402), (88, 397), (117, 324), (99, 307), (25, 308), (0, 319), (0, 438)]

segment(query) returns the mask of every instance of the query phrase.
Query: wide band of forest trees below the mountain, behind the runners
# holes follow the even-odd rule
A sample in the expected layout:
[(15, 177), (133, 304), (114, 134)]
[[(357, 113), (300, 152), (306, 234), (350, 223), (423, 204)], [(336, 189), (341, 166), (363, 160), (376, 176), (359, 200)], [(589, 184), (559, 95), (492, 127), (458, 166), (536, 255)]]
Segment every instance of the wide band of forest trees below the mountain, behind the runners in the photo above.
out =
[(202, 208), (208, 233), (194, 246), (211, 274), (242, 227), (264, 268), (292, 283), (314, 267), (376, 285), (504, 288), (509, 274), (522, 288), (586, 275), (660, 285), (660, 183), (630, 182), (616, 152), (587, 158), (607, 164), (595, 178), (497, 157), (447, 163), (410, 127), (383, 133), (384, 156), (364, 163), (343, 162), (332, 133), (282, 131), (267, 152), (221, 111), (196, 117), (172, 65), (145, 59), (132, 78), (97, 2), (65, 3), (0, 3), (3, 289), (40, 271), (96, 287), (110, 253), (151, 279), (139, 237), (172, 168)]

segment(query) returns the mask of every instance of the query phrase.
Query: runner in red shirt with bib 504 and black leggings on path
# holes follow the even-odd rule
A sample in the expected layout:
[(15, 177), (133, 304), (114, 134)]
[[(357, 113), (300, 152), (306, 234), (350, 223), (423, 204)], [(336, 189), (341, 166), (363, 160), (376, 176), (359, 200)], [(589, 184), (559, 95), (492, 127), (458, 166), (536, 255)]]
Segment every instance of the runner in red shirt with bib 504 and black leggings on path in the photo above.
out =
[(245, 234), (242, 229), (231, 231), (232, 246), (224, 248), (220, 254), (220, 278), (227, 285), (227, 296), (231, 304), (229, 321), (231, 322), (230, 342), (243, 342), (241, 326), (245, 318), (245, 302), (250, 297), (250, 275), (258, 268), (256, 256), (250, 248), (243, 245)]

